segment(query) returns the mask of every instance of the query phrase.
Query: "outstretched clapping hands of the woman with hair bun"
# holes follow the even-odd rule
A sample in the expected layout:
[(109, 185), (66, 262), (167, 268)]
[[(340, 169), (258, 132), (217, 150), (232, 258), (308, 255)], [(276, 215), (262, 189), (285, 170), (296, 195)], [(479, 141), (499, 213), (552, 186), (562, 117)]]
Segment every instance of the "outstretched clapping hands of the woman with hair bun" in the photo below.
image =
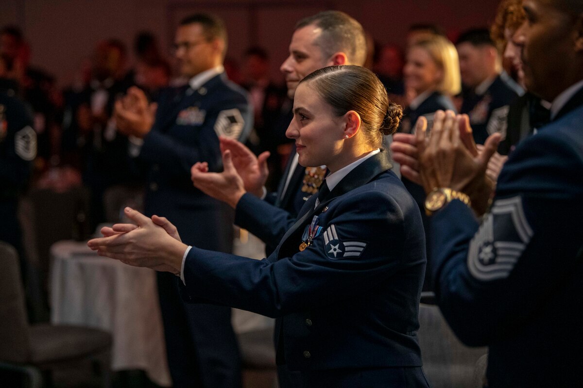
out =
[[(137, 225), (117, 224), (113, 228), (104, 228), (102, 231), (106, 232), (105, 237), (89, 240), (87, 245), (101, 256), (117, 259), (128, 265), (180, 272), (187, 245), (171, 236), (167, 228), (156, 225), (138, 211), (125, 208), (124, 212)], [(171, 225), (161, 219), (159, 222)]]

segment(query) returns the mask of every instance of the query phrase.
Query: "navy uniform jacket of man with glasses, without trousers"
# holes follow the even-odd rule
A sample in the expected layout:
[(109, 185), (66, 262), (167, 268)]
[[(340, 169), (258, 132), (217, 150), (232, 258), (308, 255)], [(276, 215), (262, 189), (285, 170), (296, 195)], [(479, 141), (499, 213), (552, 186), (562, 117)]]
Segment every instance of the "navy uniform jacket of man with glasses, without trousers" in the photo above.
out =
[(252, 114), (243, 89), (224, 74), (198, 90), (168, 90), (160, 97), (154, 126), (144, 137), (140, 154), (149, 162), (146, 214), (163, 214), (183, 233), (185, 243), (213, 250), (230, 247), (224, 236), (231, 236), (231, 225), (224, 220), (224, 205), (192, 186), (190, 169), (202, 161), (209, 163), (210, 171), (222, 168), (215, 127), (221, 112), (231, 109), (244, 120), (236, 137), (244, 139), (252, 127)]

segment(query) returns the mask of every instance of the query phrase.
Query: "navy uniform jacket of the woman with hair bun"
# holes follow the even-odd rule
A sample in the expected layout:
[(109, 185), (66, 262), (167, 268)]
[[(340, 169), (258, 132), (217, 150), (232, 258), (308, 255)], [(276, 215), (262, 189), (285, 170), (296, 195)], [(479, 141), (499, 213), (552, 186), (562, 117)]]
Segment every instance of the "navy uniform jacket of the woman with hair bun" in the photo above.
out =
[[(313, 195), (266, 259), (193, 247), (183, 296), (282, 317), (278, 363), (291, 371), (420, 366), (423, 226), (419, 208), (390, 168), (381, 152), (315, 209)], [(314, 216), (322, 229), (300, 251)]]

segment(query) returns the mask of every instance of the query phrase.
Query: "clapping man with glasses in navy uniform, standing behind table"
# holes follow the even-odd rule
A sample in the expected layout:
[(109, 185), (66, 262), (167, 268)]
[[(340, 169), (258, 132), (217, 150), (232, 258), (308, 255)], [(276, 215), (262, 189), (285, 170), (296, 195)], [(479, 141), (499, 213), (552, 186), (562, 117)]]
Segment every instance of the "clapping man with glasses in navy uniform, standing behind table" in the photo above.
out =
[[(131, 88), (117, 102), (116, 118), (120, 129), (141, 143), (139, 158), (149, 166), (146, 214), (164, 214), (180, 225), (185, 241), (230, 252), (232, 211), (194, 188), (189, 173), (199, 161), (219, 170), (219, 136), (244, 140), (252, 126), (247, 95), (224, 74), (226, 40), (224, 24), (214, 16), (182, 20), (175, 56), (188, 85), (163, 93), (155, 116), (145, 94)], [(157, 276), (174, 387), (241, 386), (230, 308), (184, 304), (175, 276)]]

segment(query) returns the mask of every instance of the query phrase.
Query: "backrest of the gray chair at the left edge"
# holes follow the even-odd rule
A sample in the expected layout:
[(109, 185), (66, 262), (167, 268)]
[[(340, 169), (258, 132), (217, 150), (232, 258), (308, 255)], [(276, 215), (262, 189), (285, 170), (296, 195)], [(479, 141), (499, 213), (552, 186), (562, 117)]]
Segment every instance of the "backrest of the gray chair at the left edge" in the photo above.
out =
[(27, 362), (30, 358), (29, 322), (18, 254), (0, 241), (0, 361)]

